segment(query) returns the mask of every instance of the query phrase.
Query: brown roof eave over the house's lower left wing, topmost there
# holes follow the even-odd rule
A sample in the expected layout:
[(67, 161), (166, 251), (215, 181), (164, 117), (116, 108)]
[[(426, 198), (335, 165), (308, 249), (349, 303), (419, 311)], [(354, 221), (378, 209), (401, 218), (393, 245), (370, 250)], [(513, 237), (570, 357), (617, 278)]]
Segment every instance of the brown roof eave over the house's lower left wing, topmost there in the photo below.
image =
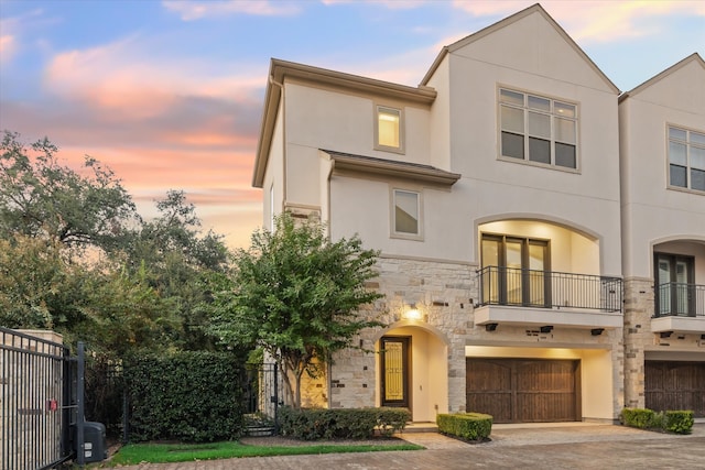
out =
[(436, 98), (436, 91), (426, 86), (409, 87), (390, 81), (361, 77), (359, 75), (344, 74), (341, 72), (272, 58), (264, 95), (264, 112), (260, 125), (260, 138), (254, 156), (254, 172), (252, 175), (252, 186), (254, 187), (262, 187), (264, 184), (264, 170), (267, 168), (267, 159), (276, 122), (276, 113), (281, 100), (281, 87), (284, 80), (290, 78), (421, 105), (430, 105)]

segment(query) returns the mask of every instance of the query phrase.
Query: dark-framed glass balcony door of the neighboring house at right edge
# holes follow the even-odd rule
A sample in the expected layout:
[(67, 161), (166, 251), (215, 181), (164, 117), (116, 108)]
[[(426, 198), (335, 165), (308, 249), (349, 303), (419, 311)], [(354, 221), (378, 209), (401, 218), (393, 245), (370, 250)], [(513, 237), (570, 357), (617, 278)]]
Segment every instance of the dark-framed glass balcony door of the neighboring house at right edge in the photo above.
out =
[(658, 314), (695, 316), (693, 258), (657, 253), (655, 264)]

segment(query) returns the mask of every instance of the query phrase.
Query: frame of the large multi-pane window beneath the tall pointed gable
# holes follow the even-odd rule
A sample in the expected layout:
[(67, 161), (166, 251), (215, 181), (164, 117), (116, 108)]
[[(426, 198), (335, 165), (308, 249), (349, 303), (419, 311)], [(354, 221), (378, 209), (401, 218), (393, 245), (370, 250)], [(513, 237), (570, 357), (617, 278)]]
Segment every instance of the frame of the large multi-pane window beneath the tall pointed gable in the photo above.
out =
[[(517, 94), (517, 95), (521, 95), (521, 99), (522, 99), (522, 103), (518, 105), (516, 102), (509, 102), (509, 101), (503, 101), (502, 100), (502, 91), (506, 91), (508, 94)], [(532, 107), (530, 105), (530, 100), (531, 98), (534, 98), (535, 102), (540, 102), (540, 101), (547, 101), (547, 109), (541, 109), (538, 106)], [(551, 170), (558, 170), (558, 171), (563, 171), (563, 172), (568, 172), (568, 173), (579, 173), (581, 172), (581, 152), (579, 152), (579, 123), (581, 123), (581, 116), (579, 116), (579, 111), (581, 111), (581, 107), (579, 103), (570, 99), (564, 99), (564, 98), (560, 98), (560, 97), (554, 97), (554, 96), (549, 96), (549, 95), (544, 95), (544, 94), (538, 94), (538, 92), (533, 92), (533, 91), (528, 91), (528, 90), (523, 90), (523, 89), (518, 89), (518, 88), (513, 88), (510, 86), (503, 86), (503, 85), (498, 85), (497, 86), (497, 129), (498, 129), (498, 133), (497, 133), (497, 153), (498, 153), (498, 160), (502, 161), (502, 162), (512, 162), (512, 163), (520, 163), (520, 164), (524, 164), (524, 165), (532, 165), (532, 166), (540, 166), (543, 168), (551, 168)], [(573, 116), (565, 116), (565, 114), (561, 114), (557, 109), (558, 108), (564, 108), (564, 107), (572, 107), (573, 108)], [(522, 117), (522, 122), (521, 122), (521, 127), (523, 128), (523, 131), (521, 134), (517, 133), (518, 131), (514, 130), (510, 130), (510, 129), (505, 129), (506, 127), (503, 125), (503, 116), (502, 116), (502, 111), (507, 109), (507, 110), (520, 110), (521, 111), (521, 117)], [(538, 123), (539, 121), (531, 120), (530, 119), (530, 114), (535, 114), (536, 118), (547, 118), (549, 121), (549, 135), (546, 138), (546, 135), (539, 135), (538, 132), (531, 129), (532, 123)], [(564, 120), (564, 121), (568, 121), (573, 123), (573, 133), (574, 133), (574, 142), (570, 143), (566, 142), (566, 140), (560, 140), (558, 135), (560, 135), (560, 131), (558, 131), (558, 127), (557, 127), (557, 122), (558, 120)], [(521, 142), (522, 142), (522, 156), (511, 156), (509, 154), (505, 153), (505, 133), (508, 134), (513, 134), (516, 136), (521, 136)], [(549, 154), (549, 162), (541, 162), (538, 160), (531, 160), (531, 147), (532, 144), (536, 145), (541, 142), (547, 142), (549, 143), (549, 149), (550, 149), (550, 154)], [(556, 164), (556, 157), (558, 156), (558, 147), (560, 145), (573, 145), (575, 151), (574, 151), (574, 159), (575, 159), (575, 166), (564, 166), (564, 165), (560, 165)]]

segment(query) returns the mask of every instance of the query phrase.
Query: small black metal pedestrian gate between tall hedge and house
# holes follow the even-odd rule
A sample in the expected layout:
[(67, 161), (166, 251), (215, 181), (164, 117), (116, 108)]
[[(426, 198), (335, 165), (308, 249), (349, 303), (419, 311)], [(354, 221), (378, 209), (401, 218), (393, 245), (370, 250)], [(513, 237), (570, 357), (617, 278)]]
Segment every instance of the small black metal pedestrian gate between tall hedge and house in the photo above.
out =
[(257, 364), (246, 368), (243, 401), (247, 434), (270, 436), (278, 433), (276, 413), (281, 383), (276, 364)]

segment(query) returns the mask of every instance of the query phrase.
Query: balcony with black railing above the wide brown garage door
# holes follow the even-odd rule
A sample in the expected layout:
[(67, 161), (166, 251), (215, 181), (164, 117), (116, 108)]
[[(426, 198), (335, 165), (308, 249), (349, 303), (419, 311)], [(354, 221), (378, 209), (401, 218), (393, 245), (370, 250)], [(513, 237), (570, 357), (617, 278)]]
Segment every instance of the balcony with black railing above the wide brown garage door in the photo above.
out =
[(564, 326), (595, 335), (622, 326), (619, 277), (503, 266), (487, 266), (477, 274), (476, 325)]

